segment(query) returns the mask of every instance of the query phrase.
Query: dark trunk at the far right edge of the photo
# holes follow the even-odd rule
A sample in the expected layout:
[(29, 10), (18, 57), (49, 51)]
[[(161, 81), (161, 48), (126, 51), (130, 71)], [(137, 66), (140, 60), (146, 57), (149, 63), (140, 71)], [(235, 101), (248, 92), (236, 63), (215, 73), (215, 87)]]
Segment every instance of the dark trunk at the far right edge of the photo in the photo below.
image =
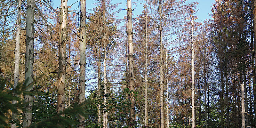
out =
[[(254, 45), (254, 61), (255, 61), (255, 58), (256, 58), (256, 0), (252, 0), (252, 10), (253, 10), (253, 14), (252, 14), (252, 17), (253, 17), (253, 45)], [(255, 65), (254, 65), (254, 81), (255, 82)], [(254, 101), (256, 101), (256, 82), (253, 83), (253, 99)], [(254, 108), (256, 108), (256, 103), (254, 102)], [(255, 122), (255, 128), (256, 128), (256, 111), (254, 111), (254, 122)]]

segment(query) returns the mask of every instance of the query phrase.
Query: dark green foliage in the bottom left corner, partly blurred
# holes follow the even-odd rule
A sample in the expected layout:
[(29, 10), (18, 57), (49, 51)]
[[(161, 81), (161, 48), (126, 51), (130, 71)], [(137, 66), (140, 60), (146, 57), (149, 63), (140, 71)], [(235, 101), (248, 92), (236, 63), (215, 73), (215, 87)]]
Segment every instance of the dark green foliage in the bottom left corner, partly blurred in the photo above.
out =
[[(80, 105), (75, 104), (73, 108), (67, 108), (63, 112), (56, 114), (54, 104), (56, 101), (51, 97), (49, 93), (42, 92), (25, 92), (23, 84), (17, 85), (13, 89), (13, 85), (7, 81), (0, 82), (0, 127), (10, 127), (10, 123), (16, 123), (18, 127), (22, 127), (19, 121), (11, 121), (11, 112), (15, 112), (19, 115), (18, 109), (23, 109), (23, 101), (18, 97), (20, 94), (38, 94), (41, 95), (40, 99), (37, 99), (37, 107), (33, 106), (36, 111), (33, 111), (33, 121), (28, 128), (65, 128), (76, 127), (78, 124), (77, 117), (82, 115), (88, 117), (90, 113), (87, 111), (86, 106), (89, 102), (82, 103)], [(15, 94), (15, 95), (14, 95)], [(12, 100), (16, 100), (16, 104), (12, 104)], [(41, 100), (39, 102), (39, 100)], [(44, 111), (45, 110), (45, 111)], [(65, 117), (60, 116), (65, 114)], [(75, 119), (74, 119), (75, 118)]]

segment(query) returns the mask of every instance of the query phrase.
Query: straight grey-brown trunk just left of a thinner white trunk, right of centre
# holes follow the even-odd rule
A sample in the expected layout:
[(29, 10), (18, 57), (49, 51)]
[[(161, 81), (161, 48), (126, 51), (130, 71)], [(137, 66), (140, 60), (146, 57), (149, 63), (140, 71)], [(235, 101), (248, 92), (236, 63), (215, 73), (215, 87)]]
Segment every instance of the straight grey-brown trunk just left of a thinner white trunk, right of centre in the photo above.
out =
[(160, 31), (160, 127), (164, 128), (164, 85), (163, 85), (163, 33), (162, 33), (162, 5), (159, 0), (159, 31)]

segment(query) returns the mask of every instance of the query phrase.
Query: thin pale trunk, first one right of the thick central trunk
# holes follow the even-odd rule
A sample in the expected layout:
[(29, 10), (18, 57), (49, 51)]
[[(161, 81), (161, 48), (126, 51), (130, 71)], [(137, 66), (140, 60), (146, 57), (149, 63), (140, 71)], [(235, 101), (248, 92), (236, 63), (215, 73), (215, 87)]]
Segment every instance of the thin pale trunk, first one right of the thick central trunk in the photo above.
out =
[(148, 126), (148, 86), (147, 86), (147, 68), (148, 68), (148, 49), (147, 49), (147, 0), (146, 0), (146, 39), (145, 39), (145, 127)]

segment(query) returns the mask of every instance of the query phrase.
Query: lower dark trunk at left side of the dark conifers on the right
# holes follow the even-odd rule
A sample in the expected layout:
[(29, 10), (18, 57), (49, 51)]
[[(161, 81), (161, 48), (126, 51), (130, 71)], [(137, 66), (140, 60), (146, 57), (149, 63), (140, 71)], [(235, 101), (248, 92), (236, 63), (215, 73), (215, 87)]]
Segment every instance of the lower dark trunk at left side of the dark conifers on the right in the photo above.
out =
[(224, 101), (223, 101), (223, 94), (224, 94), (224, 80), (223, 80), (223, 64), (220, 64), (220, 79), (221, 79), (221, 92), (220, 92), (220, 125), (221, 128), (224, 128), (224, 112), (223, 112), (223, 107), (224, 107)]

